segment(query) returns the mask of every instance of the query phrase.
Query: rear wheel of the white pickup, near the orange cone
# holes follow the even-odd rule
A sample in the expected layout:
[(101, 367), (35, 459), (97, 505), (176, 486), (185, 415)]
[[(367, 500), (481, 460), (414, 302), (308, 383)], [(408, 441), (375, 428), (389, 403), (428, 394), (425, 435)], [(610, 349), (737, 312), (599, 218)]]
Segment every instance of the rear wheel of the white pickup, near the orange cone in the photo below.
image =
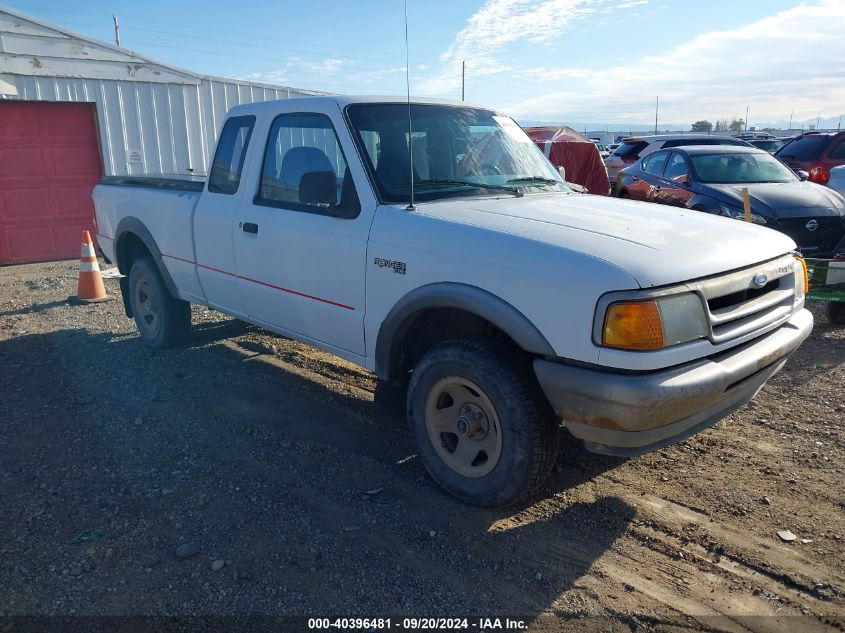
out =
[(135, 260), (129, 270), (129, 305), (147, 345), (166, 349), (187, 338), (191, 304), (173, 298), (152, 257)]

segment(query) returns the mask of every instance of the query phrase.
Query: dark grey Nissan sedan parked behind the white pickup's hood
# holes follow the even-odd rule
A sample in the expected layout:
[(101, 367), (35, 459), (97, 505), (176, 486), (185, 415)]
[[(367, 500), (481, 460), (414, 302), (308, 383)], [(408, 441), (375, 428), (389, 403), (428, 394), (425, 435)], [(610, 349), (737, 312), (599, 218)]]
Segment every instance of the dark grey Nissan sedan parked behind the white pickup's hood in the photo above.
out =
[(742, 189), (755, 224), (786, 233), (808, 257), (832, 257), (845, 238), (845, 199), (806, 182), (768, 152), (750, 147), (661, 150), (620, 175), (620, 197), (742, 220)]

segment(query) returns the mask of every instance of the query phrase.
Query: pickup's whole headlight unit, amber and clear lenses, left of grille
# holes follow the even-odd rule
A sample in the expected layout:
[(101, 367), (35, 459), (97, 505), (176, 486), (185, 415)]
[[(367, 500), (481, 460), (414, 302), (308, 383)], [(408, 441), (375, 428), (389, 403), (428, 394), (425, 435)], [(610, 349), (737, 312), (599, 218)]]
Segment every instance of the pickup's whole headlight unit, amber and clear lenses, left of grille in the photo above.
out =
[(698, 295), (685, 292), (644, 301), (615, 301), (607, 306), (602, 345), (654, 350), (694, 341), (708, 334)]

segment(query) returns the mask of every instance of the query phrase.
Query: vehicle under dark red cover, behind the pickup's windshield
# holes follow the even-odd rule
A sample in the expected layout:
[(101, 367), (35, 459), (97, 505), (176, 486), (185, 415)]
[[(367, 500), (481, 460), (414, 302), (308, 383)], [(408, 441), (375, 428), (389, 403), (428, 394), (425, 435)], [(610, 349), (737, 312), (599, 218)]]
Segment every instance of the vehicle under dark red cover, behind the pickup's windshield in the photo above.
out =
[(566, 170), (566, 180), (585, 187), (590, 193), (610, 193), (607, 169), (598, 148), (583, 134), (570, 127), (523, 128), (555, 167)]

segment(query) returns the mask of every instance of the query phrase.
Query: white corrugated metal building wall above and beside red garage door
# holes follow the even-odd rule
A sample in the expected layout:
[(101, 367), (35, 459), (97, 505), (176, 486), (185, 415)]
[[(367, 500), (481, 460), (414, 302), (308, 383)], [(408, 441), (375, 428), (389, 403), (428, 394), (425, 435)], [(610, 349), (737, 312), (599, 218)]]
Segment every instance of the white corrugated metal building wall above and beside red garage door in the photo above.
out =
[[(17, 89), (5, 98), (96, 104), (108, 175), (205, 174), (226, 112), (242, 103), (318, 94), (202, 78), (193, 83), (5, 75)], [(0, 98), (4, 98), (0, 96)]]

